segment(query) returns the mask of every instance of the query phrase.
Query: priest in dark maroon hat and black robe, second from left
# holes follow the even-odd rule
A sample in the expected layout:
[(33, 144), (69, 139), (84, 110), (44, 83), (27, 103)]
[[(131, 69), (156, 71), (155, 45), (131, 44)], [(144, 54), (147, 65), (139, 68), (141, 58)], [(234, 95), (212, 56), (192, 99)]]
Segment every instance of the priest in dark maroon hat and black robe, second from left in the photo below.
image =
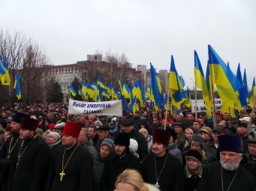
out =
[(23, 117), (20, 124), (17, 154), (14, 156), (15, 172), (12, 190), (44, 190), (49, 168), (49, 148), (35, 134), (39, 121)]

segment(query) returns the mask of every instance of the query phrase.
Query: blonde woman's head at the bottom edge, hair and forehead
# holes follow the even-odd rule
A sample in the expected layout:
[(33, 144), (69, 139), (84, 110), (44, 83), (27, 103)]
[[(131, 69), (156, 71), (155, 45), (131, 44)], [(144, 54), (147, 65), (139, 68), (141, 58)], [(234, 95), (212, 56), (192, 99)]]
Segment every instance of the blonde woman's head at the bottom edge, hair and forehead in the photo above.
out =
[(146, 191), (148, 189), (146, 189), (141, 174), (134, 169), (125, 169), (115, 181), (115, 190)]

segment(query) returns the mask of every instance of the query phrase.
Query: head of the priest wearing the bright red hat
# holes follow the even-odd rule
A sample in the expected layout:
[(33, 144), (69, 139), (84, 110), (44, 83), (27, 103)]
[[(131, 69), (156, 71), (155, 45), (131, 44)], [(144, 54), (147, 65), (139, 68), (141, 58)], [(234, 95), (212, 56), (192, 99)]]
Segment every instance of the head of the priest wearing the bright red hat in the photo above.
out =
[(67, 121), (63, 129), (62, 145), (70, 147), (76, 144), (81, 131), (81, 126), (74, 122)]

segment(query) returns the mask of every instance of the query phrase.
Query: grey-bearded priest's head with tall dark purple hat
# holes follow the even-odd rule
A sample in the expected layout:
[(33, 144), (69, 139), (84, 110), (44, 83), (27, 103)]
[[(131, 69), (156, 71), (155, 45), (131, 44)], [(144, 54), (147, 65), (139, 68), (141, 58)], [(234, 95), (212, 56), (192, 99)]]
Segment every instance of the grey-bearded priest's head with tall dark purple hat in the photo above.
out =
[(234, 135), (221, 135), (218, 139), (221, 166), (230, 171), (237, 169), (242, 159), (241, 138)]

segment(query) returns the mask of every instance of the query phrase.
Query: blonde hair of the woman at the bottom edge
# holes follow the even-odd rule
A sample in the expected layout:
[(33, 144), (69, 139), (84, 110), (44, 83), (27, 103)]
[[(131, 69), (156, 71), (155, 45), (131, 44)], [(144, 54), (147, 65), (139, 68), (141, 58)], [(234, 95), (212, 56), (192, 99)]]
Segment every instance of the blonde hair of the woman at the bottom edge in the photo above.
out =
[(118, 183), (133, 185), (136, 191), (149, 191), (149, 187), (144, 183), (141, 174), (135, 169), (125, 169), (125, 171), (119, 174), (118, 179), (115, 181), (115, 187)]

